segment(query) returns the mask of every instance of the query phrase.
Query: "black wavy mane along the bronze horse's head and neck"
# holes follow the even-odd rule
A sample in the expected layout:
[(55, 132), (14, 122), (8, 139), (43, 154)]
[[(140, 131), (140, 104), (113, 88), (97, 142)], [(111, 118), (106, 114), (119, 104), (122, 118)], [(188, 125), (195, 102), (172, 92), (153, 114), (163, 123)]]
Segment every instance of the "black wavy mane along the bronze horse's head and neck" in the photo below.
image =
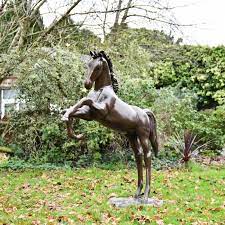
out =
[(113, 87), (114, 92), (117, 93), (118, 90), (119, 90), (119, 84), (118, 84), (118, 81), (117, 81), (117, 79), (116, 79), (116, 77), (115, 77), (116, 75), (115, 75), (115, 73), (113, 72), (113, 64), (112, 64), (112, 61), (111, 61), (111, 59), (109, 58), (109, 56), (106, 55), (104, 51), (100, 51), (100, 52), (98, 52), (98, 53), (96, 53), (96, 52), (94, 51), (94, 52), (91, 52), (91, 57), (92, 57), (93, 59), (102, 57), (102, 58), (104, 58), (104, 59), (106, 60), (106, 62), (107, 62), (107, 64), (108, 64), (108, 67), (109, 67), (110, 78), (111, 78), (111, 81), (112, 81), (112, 87)]

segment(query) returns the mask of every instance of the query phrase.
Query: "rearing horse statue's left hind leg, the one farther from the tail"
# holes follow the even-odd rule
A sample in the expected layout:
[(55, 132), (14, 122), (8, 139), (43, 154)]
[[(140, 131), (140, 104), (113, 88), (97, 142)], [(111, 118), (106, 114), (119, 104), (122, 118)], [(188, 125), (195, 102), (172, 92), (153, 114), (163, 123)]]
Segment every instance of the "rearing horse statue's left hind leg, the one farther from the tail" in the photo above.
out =
[(141, 190), (143, 188), (143, 165), (142, 165), (142, 149), (141, 145), (138, 141), (137, 136), (128, 136), (131, 148), (133, 149), (136, 165), (137, 165), (137, 172), (138, 172), (138, 183), (137, 183), (137, 191), (134, 195), (135, 198), (141, 196)]

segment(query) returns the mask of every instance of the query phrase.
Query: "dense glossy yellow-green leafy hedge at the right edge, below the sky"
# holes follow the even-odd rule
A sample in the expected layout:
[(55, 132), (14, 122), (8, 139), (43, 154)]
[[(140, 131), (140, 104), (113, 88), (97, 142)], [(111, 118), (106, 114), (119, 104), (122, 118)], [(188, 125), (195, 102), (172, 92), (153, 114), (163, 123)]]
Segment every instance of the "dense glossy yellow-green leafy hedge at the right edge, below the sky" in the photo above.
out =
[(180, 46), (178, 59), (164, 59), (154, 65), (158, 87), (180, 84), (198, 96), (199, 107), (223, 104), (225, 96), (225, 47)]

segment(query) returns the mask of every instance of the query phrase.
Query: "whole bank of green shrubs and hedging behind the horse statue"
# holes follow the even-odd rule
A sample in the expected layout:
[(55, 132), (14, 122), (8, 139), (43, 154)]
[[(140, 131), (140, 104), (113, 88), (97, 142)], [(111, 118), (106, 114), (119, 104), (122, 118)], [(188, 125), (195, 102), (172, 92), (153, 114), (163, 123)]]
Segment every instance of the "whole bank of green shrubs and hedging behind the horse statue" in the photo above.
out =
[[(71, 24), (63, 21), (55, 32), (64, 25)], [(2, 75), (18, 75), (19, 97), (26, 103), (10, 120), (17, 156), (76, 166), (110, 160), (134, 162), (127, 140), (113, 131), (96, 122), (74, 121), (75, 133), (85, 134), (85, 140), (77, 142), (67, 138), (60, 121), (60, 109), (87, 94), (81, 58), (96, 47), (104, 49), (113, 61), (119, 96), (155, 113), (163, 160), (174, 162), (177, 155), (171, 140), (185, 129), (203, 142), (210, 141), (210, 149), (224, 147), (224, 47), (179, 46), (167, 35), (145, 29), (121, 30), (100, 43), (95, 35), (86, 35), (88, 31), (69, 27), (73, 38), (66, 39), (68, 33), (63, 30), (61, 41), (52, 39), (61, 47), (36, 48), (0, 59)], [(221, 106), (198, 111), (214, 103)]]

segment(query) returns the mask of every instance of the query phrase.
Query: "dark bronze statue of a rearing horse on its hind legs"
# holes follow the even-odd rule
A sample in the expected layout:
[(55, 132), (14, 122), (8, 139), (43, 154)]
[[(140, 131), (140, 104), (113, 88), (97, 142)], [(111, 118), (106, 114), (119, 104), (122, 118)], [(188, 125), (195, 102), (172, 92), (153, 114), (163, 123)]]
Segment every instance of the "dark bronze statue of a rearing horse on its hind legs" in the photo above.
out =
[(134, 151), (138, 184), (135, 197), (142, 195), (143, 187), (143, 165), (142, 156), (146, 167), (146, 185), (144, 199), (148, 199), (151, 181), (151, 151), (157, 156), (158, 141), (156, 133), (156, 120), (154, 114), (148, 109), (141, 109), (122, 101), (115, 92), (118, 83), (114, 77), (113, 65), (109, 57), (100, 51), (90, 52), (91, 60), (88, 62), (87, 77), (84, 82), (86, 89), (90, 91), (87, 97), (82, 98), (77, 104), (66, 110), (62, 117), (67, 122), (69, 137), (81, 139), (81, 135), (74, 135), (72, 130), (72, 119), (95, 120), (106, 127), (125, 133)]

